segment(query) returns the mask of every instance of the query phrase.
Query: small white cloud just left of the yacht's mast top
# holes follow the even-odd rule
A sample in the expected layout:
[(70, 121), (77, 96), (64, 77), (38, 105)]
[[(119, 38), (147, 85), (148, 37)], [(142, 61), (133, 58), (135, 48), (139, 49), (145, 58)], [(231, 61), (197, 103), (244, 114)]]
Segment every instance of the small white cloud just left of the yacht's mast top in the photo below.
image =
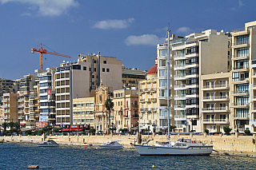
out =
[(131, 35), (126, 38), (126, 45), (157, 45), (164, 42), (165, 38), (158, 38), (154, 34), (143, 34), (141, 36)]

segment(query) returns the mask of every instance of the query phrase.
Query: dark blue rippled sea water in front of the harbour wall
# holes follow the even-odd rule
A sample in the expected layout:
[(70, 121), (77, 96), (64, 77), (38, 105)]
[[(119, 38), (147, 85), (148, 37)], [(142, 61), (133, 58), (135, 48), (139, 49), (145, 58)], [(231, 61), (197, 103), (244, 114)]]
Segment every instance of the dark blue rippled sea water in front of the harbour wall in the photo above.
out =
[(135, 149), (60, 145), (37, 147), (30, 143), (0, 144), (0, 169), (255, 169), (256, 159), (238, 156), (138, 156)]

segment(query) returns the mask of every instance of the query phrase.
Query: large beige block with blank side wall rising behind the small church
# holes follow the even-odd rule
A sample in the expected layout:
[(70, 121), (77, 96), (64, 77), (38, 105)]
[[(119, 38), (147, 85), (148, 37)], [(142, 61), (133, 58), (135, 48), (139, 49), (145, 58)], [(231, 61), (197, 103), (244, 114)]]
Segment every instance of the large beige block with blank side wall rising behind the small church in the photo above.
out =
[(73, 99), (94, 97), (98, 86), (122, 88), (122, 61), (116, 57), (78, 55), (77, 62), (62, 63), (55, 72), (56, 124), (73, 124)]

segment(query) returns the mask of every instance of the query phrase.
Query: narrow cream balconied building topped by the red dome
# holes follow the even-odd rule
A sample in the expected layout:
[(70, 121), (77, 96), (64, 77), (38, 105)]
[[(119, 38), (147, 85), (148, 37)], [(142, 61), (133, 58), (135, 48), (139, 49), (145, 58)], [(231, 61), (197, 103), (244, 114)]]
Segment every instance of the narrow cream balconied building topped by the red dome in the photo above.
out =
[(162, 131), (158, 119), (158, 59), (155, 65), (149, 69), (146, 80), (139, 81), (139, 131), (150, 132)]

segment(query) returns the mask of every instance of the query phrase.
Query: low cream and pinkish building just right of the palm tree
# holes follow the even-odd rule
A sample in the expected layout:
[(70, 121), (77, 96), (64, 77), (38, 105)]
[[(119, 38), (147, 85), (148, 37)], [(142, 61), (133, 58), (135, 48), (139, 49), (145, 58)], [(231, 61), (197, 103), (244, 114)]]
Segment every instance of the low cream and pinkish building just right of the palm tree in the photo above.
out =
[(114, 110), (111, 124), (117, 128), (138, 130), (138, 89), (114, 90)]

